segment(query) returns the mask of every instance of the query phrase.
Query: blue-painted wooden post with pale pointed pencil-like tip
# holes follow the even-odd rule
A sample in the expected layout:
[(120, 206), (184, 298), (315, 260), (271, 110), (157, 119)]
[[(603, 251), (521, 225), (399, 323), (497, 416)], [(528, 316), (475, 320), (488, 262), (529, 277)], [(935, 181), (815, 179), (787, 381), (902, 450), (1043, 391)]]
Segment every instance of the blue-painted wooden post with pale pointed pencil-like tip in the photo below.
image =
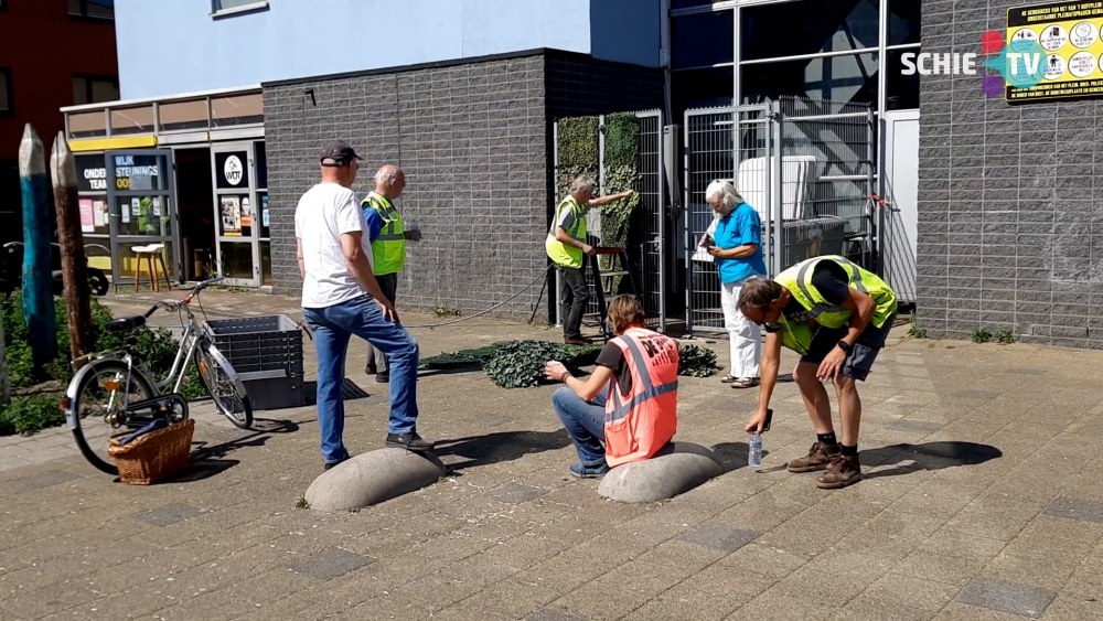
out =
[(19, 143), (19, 184), (23, 191), (23, 319), (35, 372), (43, 374), (45, 364), (57, 357), (50, 248), (53, 218), (42, 140), (31, 124), (26, 124)]

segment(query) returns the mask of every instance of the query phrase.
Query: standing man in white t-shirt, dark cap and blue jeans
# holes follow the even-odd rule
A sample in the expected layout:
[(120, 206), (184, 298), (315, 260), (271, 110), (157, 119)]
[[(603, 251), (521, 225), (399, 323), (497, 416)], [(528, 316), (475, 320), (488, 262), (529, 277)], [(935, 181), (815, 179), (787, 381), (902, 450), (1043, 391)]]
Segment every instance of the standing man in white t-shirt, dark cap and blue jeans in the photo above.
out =
[(325, 469), (349, 459), (344, 431), (345, 354), (355, 334), (390, 361), (386, 445), (428, 451), (417, 432), (418, 346), (375, 280), (364, 213), (351, 190), (361, 157), (340, 140), (322, 148), (322, 181), (299, 199), (295, 237), (302, 276), (302, 312), (318, 352), (318, 426)]

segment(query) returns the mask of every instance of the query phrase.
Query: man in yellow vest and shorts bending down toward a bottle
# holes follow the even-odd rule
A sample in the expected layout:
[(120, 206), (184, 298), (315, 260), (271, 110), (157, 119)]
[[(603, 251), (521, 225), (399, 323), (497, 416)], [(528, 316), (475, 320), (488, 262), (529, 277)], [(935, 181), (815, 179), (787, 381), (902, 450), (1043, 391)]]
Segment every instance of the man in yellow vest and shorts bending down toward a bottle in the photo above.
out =
[[(789, 471), (826, 470), (816, 479), (825, 490), (860, 481), (861, 399), (855, 381), (866, 381), (885, 346), (897, 311), (896, 293), (872, 272), (843, 257), (825, 256), (796, 264), (773, 280), (748, 280), (739, 292), (739, 310), (767, 332), (759, 406), (747, 431), (762, 431), (781, 347), (789, 347), (801, 354), (793, 376), (816, 430), (808, 456), (789, 462)], [(827, 379), (838, 395), (842, 445), (823, 385)]]

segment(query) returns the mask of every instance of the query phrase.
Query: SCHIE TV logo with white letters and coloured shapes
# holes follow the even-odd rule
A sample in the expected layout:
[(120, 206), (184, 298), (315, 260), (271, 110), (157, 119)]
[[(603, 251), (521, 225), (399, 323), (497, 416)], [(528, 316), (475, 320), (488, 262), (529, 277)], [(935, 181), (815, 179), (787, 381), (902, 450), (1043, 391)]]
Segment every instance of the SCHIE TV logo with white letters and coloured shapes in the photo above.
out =
[[(981, 54), (999, 55), (989, 58), (981, 66), (988, 67), (997, 72), (996, 75), (984, 75), (982, 90), (987, 97), (999, 97), (1004, 94), (1004, 85), (1015, 88), (1031, 88), (1038, 86), (1050, 71), (1050, 65), (1054, 63), (1041, 45), (1038, 44), (1037, 36), (1029, 30), (1021, 30), (1016, 33), (1015, 40), (1006, 47), (1004, 45), (1004, 34), (996, 30), (989, 30), (981, 38)], [(976, 75), (977, 56), (975, 52), (932, 54), (922, 52), (907, 52), (901, 54), (900, 63), (903, 65), (903, 75)], [(1057, 56), (1060, 62), (1060, 56)]]

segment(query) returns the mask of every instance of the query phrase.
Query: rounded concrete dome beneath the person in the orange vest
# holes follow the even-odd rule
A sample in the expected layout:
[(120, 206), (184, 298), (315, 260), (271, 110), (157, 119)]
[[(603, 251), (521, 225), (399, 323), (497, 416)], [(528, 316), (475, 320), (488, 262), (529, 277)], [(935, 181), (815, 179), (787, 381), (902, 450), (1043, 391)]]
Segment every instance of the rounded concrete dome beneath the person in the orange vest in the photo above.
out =
[(724, 474), (713, 451), (689, 442), (671, 442), (655, 457), (619, 465), (598, 485), (598, 494), (620, 502), (656, 502), (684, 494)]

